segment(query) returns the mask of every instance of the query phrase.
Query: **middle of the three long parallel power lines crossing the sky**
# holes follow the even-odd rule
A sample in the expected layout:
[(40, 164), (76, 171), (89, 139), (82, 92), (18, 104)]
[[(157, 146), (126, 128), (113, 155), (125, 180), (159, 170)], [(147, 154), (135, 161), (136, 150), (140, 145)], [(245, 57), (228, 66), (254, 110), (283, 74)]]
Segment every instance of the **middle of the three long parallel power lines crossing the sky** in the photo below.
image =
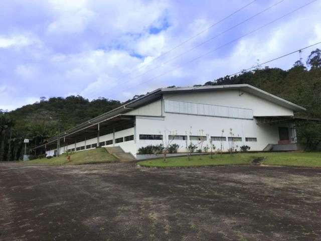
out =
[[(218, 38), (219, 36), (221, 36), (221, 35), (229, 32), (229, 31), (231, 31), (232, 29), (235, 29), (236, 27), (238, 27), (238, 26), (240, 26), (240, 25), (242, 25), (242, 24), (250, 21), (251, 19), (257, 17), (258, 15), (260, 15), (260, 14), (262, 14), (262, 13), (268, 11), (268, 10), (270, 10), (271, 8), (277, 6), (278, 4), (280, 4), (280, 3), (284, 2), (284, 1), (285, 1), (285, 0), (281, 0), (281, 1), (279, 1), (279, 2), (277, 2), (277, 3), (275, 3), (275, 4), (273, 4), (273, 5), (271, 5), (270, 7), (266, 8), (266, 9), (264, 9), (264, 10), (258, 12), (258, 13), (256, 13), (255, 15), (253, 15), (253, 16), (245, 19), (245, 20), (243, 20), (242, 22), (240, 22), (240, 23), (238, 23), (238, 24), (236, 24), (236, 25), (234, 25), (234, 26), (232, 26), (232, 27), (224, 30), (223, 32), (221, 32), (221, 33), (219, 33), (219, 34), (211, 37), (210, 39), (207, 39), (206, 41), (199, 43), (198, 45), (194, 46), (193, 48), (191, 48), (191, 49), (189, 49), (189, 50), (187, 50), (187, 51), (185, 51), (185, 52), (183, 52), (183, 53), (181, 53), (181, 54), (179, 54), (179, 55), (177, 55), (177, 56), (174, 56), (173, 58), (171, 58), (171, 59), (169, 59), (169, 60), (161, 63), (160, 65), (158, 65), (158, 66), (156, 66), (156, 67), (154, 67), (154, 68), (152, 68), (152, 69), (149, 69), (149, 70), (145, 71), (145, 72), (142, 73), (142, 74), (139, 74), (139, 75), (137, 75), (137, 76), (135, 76), (135, 77), (130, 78), (130, 80), (137, 79), (137, 78), (139, 78), (139, 77), (141, 77), (141, 76), (143, 76), (143, 75), (145, 75), (145, 74), (147, 74), (147, 73), (149, 73), (149, 72), (151, 72), (151, 71), (153, 71), (153, 70), (155, 70), (155, 69), (158, 69), (159, 67), (164, 66), (165, 64), (167, 64), (167, 63), (169, 63), (169, 62), (171, 62), (171, 61), (173, 61), (173, 60), (175, 60), (175, 59), (177, 59), (177, 58), (179, 58), (179, 57), (181, 57), (181, 56), (183, 56), (183, 55), (185, 55), (185, 54), (193, 51), (194, 49), (196, 49), (196, 48), (198, 48), (198, 47), (200, 47), (200, 46), (202, 46), (202, 45), (204, 45), (204, 44), (206, 44), (206, 43), (208, 43), (208, 42), (210, 42), (210, 41)], [(186, 42), (188, 42), (188, 41), (186, 41)], [(168, 52), (168, 53), (169, 53), (169, 52)], [(116, 88), (116, 87), (114, 87), (114, 88)], [(113, 88), (111, 88), (111, 89), (113, 89)]]

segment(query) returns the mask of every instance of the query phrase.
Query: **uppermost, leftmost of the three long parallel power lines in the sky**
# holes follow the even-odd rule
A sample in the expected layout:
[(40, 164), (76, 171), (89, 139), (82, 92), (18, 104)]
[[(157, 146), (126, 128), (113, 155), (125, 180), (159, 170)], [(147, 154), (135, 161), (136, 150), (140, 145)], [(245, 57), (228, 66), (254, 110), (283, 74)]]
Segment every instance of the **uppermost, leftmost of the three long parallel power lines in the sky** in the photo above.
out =
[[(283, 0), (283, 1), (284, 1), (284, 0)], [(134, 73), (134, 72), (138, 71), (139, 69), (142, 69), (142, 68), (144, 68), (144, 67), (147, 67), (147, 66), (151, 65), (151, 63), (152, 63), (152, 62), (154, 62), (155, 60), (157, 60), (157, 59), (159, 59), (159, 58), (161, 58), (161, 57), (163, 57), (163, 56), (165, 56), (165, 55), (167, 55), (167, 54), (169, 54), (169, 53), (173, 52), (175, 49), (177, 49), (177, 48), (181, 47), (182, 45), (184, 45), (184, 44), (188, 43), (189, 41), (191, 41), (191, 40), (195, 39), (195, 38), (196, 38), (196, 37), (198, 37), (199, 35), (201, 35), (201, 34), (205, 33), (206, 31), (208, 31), (209, 29), (213, 28), (214, 26), (216, 26), (216, 25), (218, 25), (218, 24), (222, 23), (223, 21), (227, 20), (228, 18), (232, 17), (233, 15), (237, 14), (238, 12), (242, 11), (243, 9), (247, 8), (248, 6), (250, 6), (251, 4), (253, 4), (253, 3), (255, 3), (255, 2), (257, 2), (257, 0), (254, 0), (254, 1), (252, 1), (252, 2), (250, 2), (250, 3), (248, 3), (248, 4), (246, 4), (246, 5), (244, 5), (244, 6), (243, 6), (243, 7), (241, 7), (240, 9), (238, 9), (238, 10), (234, 11), (234, 12), (233, 12), (233, 13), (231, 13), (230, 15), (228, 15), (228, 16), (224, 17), (223, 19), (221, 19), (221, 20), (217, 21), (216, 23), (212, 24), (212, 25), (211, 25), (211, 26), (209, 26), (208, 28), (206, 28), (206, 29), (202, 30), (201, 32), (198, 32), (196, 35), (193, 35), (193, 36), (192, 36), (192, 37), (190, 37), (189, 39), (187, 39), (187, 40), (185, 40), (185, 41), (183, 41), (183, 42), (179, 43), (179, 44), (178, 44), (178, 45), (176, 45), (176, 46), (174, 46), (172, 49), (168, 50), (167, 52), (165, 52), (165, 53), (163, 53), (163, 54), (161, 54), (161, 55), (157, 56), (157, 57), (156, 57), (156, 58), (154, 58), (154, 59), (152, 59), (150, 62), (148, 62), (148, 63), (146, 63), (146, 64), (144, 64), (144, 65), (140, 66), (139, 68), (136, 68), (136, 69), (132, 70), (131, 72), (129, 72), (129, 73), (127, 73), (127, 74), (125, 74), (125, 75), (124, 75), (124, 76), (122, 76), (121, 78), (118, 78), (116, 81), (123, 79), (125, 76), (128, 76), (128, 75), (130, 75), (130, 74), (132, 74), (132, 73)]]

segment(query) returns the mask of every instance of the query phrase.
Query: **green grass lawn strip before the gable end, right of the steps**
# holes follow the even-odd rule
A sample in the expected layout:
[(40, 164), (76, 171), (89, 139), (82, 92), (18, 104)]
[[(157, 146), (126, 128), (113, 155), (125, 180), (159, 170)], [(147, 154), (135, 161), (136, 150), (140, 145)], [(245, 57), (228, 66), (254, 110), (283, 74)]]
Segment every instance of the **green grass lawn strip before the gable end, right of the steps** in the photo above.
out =
[(186, 156), (138, 162), (147, 167), (189, 167), (189, 166), (217, 166), (217, 165), (246, 165), (253, 159), (264, 157), (262, 164), (275, 166), (321, 167), (321, 153), (283, 152), (283, 153), (237, 153), (213, 155), (194, 155), (189, 161)]

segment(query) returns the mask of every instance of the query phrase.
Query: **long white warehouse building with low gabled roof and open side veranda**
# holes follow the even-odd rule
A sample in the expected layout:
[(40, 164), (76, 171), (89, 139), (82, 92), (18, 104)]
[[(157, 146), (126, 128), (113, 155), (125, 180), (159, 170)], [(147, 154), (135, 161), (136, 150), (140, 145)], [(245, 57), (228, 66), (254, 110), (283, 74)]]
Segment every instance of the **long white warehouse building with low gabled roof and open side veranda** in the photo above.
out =
[[(211, 139), (220, 148), (222, 140), (225, 151), (231, 138), (251, 151), (262, 151), (269, 144), (275, 150), (295, 150), (293, 112), (302, 110), (248, 84), (156, 89), (63, 133), (60, 154), (119, 146), (136, 157), (140, 147), (161, 144), (173, 138), (171, 133), (179, 152), (186, 152), (186, 139), (198, 144), (200, 138), (206, 139), (203, 147)], [(54, 155), (57, 137), (37, 148)]]

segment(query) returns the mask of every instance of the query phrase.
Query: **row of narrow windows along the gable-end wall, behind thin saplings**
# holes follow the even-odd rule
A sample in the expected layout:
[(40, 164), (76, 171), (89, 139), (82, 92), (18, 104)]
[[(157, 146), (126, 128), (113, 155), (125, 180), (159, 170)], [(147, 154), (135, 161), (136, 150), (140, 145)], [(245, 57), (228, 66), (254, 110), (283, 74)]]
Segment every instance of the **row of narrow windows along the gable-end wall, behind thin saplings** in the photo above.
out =
[[(163, 135), (139, 135), (139, 140), (163, 140)], [(185, 141), (187, 140), (187, 136), (172, 136), (169, 135), (169, 140), (180, 140)], [(206, 141), (207, 136), (190, 136), (190, 140), (192, 141)], [(218, 141), (218, 142), (226, 142), (226, 137), (211, 137), (212, 141)], [(241, 137), (228, 137), (228, 141), (234, 141), (234, 142), (241, 142)], [(256, 137), (246, 137), (246, 142), (257, 142)]]

